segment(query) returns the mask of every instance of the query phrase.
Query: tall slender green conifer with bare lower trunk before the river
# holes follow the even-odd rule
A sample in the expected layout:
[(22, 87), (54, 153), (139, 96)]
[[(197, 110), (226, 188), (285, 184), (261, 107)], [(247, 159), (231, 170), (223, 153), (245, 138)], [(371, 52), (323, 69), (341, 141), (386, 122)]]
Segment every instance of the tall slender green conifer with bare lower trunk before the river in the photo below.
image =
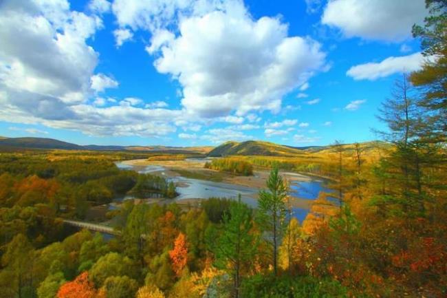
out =
[(278, 247), (287, 224), (285, 220), (287, 185), (276, 167), (270, 171), (266, 185), (267, 190), (259, 192), (259, 222), (266, 231), (265, 240), (272, 245), (273, 270), (274, 275), (277, 275)]

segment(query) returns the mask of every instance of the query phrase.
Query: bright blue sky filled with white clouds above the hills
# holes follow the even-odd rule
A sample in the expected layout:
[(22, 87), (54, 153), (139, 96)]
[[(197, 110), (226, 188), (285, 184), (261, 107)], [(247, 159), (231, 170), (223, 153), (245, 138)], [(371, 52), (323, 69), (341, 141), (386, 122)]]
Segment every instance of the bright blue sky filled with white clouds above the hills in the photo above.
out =
[(423, 0), (6, 0), (0, 136), (80, 145), (375, 139)]

